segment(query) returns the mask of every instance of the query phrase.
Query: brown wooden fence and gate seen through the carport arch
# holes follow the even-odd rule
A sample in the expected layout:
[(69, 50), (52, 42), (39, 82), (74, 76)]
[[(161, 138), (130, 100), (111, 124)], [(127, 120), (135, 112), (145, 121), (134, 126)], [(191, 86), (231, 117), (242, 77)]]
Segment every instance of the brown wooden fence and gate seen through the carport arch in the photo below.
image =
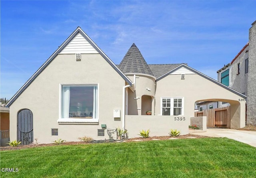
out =
[(207, 127), (226, 127), (230, 128), (230, 107), (207, 109), (195, 112), (195, 117), (206, 116)]

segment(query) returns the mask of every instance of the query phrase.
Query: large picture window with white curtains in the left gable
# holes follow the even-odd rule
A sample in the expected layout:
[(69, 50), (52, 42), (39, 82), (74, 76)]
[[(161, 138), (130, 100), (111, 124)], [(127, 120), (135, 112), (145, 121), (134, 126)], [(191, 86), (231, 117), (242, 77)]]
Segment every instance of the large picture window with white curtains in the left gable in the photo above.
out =
[(97, 119), (97, 85), (62, 85), (62, 118)]

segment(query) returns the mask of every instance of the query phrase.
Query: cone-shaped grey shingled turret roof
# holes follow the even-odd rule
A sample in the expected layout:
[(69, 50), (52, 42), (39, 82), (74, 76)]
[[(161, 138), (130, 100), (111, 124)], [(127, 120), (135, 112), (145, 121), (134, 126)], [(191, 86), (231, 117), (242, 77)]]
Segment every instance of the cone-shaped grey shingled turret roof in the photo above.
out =
[(124, 73), (142, 73), (154, 76), (135, 44), (132, 44), (118, 67)]

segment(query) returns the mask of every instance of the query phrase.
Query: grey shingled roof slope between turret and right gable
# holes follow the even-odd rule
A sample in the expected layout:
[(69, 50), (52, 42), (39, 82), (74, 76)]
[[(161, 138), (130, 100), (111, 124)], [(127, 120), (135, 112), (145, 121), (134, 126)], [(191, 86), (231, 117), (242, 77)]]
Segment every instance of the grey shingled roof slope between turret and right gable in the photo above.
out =
[(148, 66), (153, 75), (157, 78), (180, 65), (181, 64), (149, 64)]

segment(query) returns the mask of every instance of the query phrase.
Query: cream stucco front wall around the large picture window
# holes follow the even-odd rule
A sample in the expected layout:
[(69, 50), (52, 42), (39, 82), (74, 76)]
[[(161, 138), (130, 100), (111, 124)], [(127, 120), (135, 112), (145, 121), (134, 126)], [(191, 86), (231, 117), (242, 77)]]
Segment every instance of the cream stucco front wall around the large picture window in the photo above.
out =
[[(87, 83), (99, 83), (99, 123), (58, 124), (60, 84)], [(113, 109), (120, 109), (122, 113), (124, 85), (124, 79), (100, 54), (81, 54), (81, 61), (76, 61), (74, 54), (59, 54), (10, 106), (10, 140), (17, 139), (17, 113), (24, 108), (33, 113), (34, 138), (38, 138), (40, 143), (50, 143), (57, 138), (76, 141), (81, 136), (103, 139), (97, 136), (101, 124), (112, 129), (122, 127), (122, 118), (114, 120)], [(58, 136), (51, 136), (51, 129), (58, 129)], [(106, 131), (104, 138), (108, 138)]]

